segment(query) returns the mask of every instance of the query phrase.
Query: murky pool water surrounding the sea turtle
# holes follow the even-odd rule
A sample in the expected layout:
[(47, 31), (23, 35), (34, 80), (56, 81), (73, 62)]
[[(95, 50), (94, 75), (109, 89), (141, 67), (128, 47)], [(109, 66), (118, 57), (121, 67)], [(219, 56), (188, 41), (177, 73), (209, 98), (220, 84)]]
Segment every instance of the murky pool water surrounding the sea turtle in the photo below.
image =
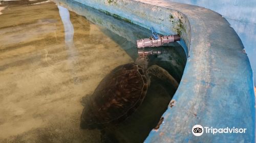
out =
[[(133, 62), (136, 39), (150, 31), (68, 1), (1, 2), (0, 23), (0, 142), (100, 142), (99, 130), (79, 129), (81, 98)], [(180, 81), (180, 45), (147, 52)], [(166, 86), (152, 78), (143, 104), (108, 133), (141, 142), (172, 99)]]

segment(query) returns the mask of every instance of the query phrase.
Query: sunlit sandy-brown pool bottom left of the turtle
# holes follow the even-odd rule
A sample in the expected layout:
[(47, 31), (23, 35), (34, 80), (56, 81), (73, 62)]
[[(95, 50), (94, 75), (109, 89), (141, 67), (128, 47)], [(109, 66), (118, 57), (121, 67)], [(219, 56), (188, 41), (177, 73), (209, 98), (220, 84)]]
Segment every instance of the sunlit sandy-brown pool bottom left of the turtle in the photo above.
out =
[(84, 17), (23, 2), (0, 5), (0, 142), (99, 142), (79, 129), (80, 100), (131, 57)]

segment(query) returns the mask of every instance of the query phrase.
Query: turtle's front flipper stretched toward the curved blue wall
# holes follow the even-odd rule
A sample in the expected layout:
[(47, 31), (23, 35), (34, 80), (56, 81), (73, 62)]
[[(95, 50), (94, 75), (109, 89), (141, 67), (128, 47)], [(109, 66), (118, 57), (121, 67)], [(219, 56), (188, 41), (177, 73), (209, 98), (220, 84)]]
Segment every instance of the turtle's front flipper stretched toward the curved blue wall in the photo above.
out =
[(146, 70), (147, 75), (153, 75), (160, 80), (170, 82), (176, 89), (179, 86), (179, 83), (175, 80), (175, 78), (168, 73), (164, 68), (158, 65), (152, 65)]

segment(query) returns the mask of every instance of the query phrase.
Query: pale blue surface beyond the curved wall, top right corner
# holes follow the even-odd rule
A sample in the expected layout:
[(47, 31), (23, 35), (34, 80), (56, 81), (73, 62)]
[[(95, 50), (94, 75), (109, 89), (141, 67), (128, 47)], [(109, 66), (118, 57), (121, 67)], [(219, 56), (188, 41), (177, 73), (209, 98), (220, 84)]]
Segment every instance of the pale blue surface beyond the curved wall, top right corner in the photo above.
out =
[(241, 38), (246, 53), (249, 57), (252, 70), (254, 71), (254, 85), (256, 85), (256, 1), (240, 0), (165, 0), (177, 3), (196, 5), (214, 10), (230, 23), (234, 31)]

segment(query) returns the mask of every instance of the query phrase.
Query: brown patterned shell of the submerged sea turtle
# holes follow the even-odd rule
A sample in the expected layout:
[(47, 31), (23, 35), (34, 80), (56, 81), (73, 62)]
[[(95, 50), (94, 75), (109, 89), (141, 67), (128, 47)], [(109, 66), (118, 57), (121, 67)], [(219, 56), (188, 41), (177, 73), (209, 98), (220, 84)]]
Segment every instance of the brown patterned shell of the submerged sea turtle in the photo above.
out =
[(147, 86), (141, 66), (128, 63), (116, 67), (88, 97), (81, 114), (80, 127), (101, 128), (105, 124), (125, 120), (142, 103)]

